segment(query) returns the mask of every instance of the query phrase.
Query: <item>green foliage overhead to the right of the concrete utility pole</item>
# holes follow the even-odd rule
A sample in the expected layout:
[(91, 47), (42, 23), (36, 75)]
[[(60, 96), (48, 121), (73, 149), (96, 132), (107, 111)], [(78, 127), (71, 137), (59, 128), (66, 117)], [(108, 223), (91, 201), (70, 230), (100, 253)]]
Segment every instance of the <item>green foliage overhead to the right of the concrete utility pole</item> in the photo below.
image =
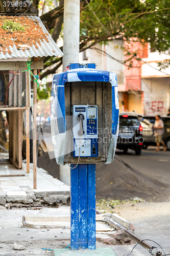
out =
[[(91, 0), (90, 7), (113, 38), (124, 37), (128, 40), (137, 37), (149, 42), (153, 51), (169, 51), (168, 0)], [(107, 41), (110, 37), (88, 5), (81, 13), (80, 28), (81, 42), (88, 42), (88, 46), (92, 45), (93, 41)]]

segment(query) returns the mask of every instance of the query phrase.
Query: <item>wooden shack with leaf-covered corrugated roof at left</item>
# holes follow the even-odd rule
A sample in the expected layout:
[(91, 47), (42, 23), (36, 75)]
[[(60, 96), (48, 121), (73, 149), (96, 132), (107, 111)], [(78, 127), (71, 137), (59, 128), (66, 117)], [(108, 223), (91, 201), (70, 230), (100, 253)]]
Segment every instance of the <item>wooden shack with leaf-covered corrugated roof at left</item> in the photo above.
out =
[[(6, 21), (17, 23), (23, 30), (3, 29)], [(4, 39), (5, 38), (5, 39)], [(26, 135), (29, 133), (29, 110), (31, 106), (31, 80), (37, 70), (43, 69), (43, 56), (62, 56), (51, 35), (36, 15), (0, 15), (0, 77), (4, 80), (5, 99), (1, 111), (8, 112), (9, 159), (22, 168), (23, 111), (27, 110)], [(30, 70), (31, 69), (31, 70)], [(6, 86), (5, 86), (6, 84)], [(34, 104), (37, 100), (37, 82), (34, 82)], [(2, 103), (2, 102), (1, 102)], [(34, 118), (36, 108), (34, 108)], [(30, 170), (30, 139), (27, 136), (27, 172)], [(36, 174), (36, 135), (33, 135), (33, 164)], [(34, 177), (36, 188), (36, 175)]]

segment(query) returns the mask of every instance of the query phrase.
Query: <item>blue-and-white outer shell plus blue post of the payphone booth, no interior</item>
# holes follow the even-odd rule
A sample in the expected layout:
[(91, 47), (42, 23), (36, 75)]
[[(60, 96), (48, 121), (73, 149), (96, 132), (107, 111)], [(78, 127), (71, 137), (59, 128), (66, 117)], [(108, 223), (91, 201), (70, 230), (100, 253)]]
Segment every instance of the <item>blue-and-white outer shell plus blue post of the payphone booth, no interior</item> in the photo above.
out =
[[(101, 81), (112, 86), (112, 136), (106, 164), (114, 159), (118, 131), (118, 91), (117, 78), (112, 72), (96, 70), (95, 64), (80, 65), (71, 63), (70, 70), (55, 74), (52, 84), (51, 128), (57, 141), (55, 151), (58, 164), (64, 164), (66, 118), (65, 82)], [(78, 85), (79, 86), (79, 85)], [(57, 140), (57, 139), (56, 139)], [(57, 152), (57, 153), (56, 153)], [(93, 159), (88, 158), (93, 162)], [(75, 164), (71, 165), (75, 167)], [(71, 249), (95, 249), (95, 164), (78, 164), (70, 169), (71, 174)]]

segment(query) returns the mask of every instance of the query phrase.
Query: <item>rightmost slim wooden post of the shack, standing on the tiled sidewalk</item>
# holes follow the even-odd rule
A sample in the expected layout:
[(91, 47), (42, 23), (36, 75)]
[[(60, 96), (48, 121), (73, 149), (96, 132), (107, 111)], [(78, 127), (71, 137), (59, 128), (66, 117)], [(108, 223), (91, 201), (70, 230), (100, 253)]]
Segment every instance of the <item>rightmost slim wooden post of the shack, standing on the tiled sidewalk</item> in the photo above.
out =
[[(34, 75), (37, 75), (37, 70), (34, 70)], [(33, 172), (34, 172), (34, 189), (37, 188), (37, 129), (36, 129), (36, 117), (37, 117), (37, 83), (34, 82), (34, 108), (33, 108)]]

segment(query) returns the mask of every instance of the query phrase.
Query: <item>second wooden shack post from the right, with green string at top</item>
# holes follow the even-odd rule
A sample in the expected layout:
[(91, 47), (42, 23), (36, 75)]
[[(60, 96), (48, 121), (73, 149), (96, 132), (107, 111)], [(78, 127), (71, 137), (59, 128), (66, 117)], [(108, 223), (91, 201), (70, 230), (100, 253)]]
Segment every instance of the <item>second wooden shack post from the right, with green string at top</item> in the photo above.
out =
[[(30, 76), (29, 72), (26, 71), (26, 105), (30, 107)], [(30, 110), (26, 111), (26, 162), (27, 162), (27, 174), (30, 173), (30, 136), (29, 127), (30, 127), (30, 118), (29, 118)]]

